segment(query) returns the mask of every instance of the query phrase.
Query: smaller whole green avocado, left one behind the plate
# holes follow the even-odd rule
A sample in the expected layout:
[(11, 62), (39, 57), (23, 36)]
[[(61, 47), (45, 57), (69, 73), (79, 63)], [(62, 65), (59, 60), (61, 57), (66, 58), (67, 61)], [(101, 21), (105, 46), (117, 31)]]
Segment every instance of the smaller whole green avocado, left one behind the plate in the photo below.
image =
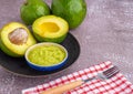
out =
[(50, 14), (50, 8), (43, 0), (27, 0), (20, 8), (20, 14), (22, 21), (31, 25), (35, 19)]

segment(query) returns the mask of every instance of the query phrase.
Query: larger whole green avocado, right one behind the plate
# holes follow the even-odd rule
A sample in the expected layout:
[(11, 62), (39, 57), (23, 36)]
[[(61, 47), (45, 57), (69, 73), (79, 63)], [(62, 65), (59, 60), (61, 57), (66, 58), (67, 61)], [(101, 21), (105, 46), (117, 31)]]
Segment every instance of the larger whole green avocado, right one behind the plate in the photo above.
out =
[(78, 28), (85, 18), (84, 0), (52, 0), (52, 13), (65, 19), (70, 29)]

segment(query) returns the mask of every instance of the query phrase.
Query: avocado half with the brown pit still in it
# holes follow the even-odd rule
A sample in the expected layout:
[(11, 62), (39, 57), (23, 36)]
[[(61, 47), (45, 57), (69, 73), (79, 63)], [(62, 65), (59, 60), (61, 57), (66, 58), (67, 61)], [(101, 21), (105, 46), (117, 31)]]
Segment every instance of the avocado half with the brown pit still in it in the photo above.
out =
[(19, 22), (10, 22), (1, 29), (0, 46), (10, 56), (23, 56), (25, 50), (35, 43), (29, 29)]

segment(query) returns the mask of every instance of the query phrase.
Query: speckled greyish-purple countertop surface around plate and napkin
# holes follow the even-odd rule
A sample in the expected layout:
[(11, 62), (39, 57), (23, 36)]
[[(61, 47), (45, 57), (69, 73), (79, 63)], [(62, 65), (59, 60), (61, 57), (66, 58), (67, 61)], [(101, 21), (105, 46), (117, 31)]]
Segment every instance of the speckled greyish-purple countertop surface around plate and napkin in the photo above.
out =
[[(19, 21), (24, 0), (0, 0), (0, 28)], [(45, 0), (49, 4), (51, 0)], [(111, 61), (133, 83), (133, 0), (85, 0), (88, 14), (70, 32), (81, 45), (79, 59), (68, 69), (47, 77), (22, 77), (0, 66), (0, 94), (21, 94), (21, 90), (43, 84), (74, 71)]]

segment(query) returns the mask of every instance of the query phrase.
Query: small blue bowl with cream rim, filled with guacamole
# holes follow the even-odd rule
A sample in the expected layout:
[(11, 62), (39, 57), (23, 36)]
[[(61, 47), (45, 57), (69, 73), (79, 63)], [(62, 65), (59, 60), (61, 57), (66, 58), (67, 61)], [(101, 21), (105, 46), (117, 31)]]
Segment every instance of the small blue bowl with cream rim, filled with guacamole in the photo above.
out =
[(40, 71), (59, 69), (65, 63), (68, 51), (58, 43), (38, 43), (25, 52), (28, 64)]

